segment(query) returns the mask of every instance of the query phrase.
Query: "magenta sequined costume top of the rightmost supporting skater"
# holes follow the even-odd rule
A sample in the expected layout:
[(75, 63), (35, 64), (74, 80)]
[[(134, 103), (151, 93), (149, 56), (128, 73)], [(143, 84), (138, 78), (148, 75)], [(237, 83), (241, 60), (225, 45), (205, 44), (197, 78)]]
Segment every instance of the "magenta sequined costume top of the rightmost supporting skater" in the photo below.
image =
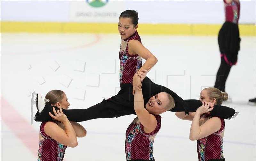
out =
[[(204, 113), (204, 117), (212, 117), (210, 114)], [(223, 137), (220, 135), (225, 128), (225, 121), (221, 119), (221, 127), (217, 132), (197, 140), (197, 154), (199, 161), (207, 161), (211, 159), (223, 159)]]

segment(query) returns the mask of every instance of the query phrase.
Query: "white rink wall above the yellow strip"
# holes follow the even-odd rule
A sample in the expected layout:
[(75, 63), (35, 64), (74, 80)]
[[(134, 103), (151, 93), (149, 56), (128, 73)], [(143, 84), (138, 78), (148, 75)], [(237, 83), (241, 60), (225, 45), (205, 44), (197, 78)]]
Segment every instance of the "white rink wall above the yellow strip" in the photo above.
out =
[[(255, 24), (255, 1), (240, 1), (240, 24)], [(124, 10), (139, 23), (222, 24), (223, 1), (108, 1), (95, 8), (83, 1), (1, 1), (1, 21), (116, 23)]]

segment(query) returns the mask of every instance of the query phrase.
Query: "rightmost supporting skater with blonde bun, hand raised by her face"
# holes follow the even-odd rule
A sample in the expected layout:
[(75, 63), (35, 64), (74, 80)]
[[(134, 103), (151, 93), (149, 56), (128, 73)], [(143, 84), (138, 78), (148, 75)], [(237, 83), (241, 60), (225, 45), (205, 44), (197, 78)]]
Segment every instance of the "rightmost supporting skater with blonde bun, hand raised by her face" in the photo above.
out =
[[(222, 160), (223, 136), (225, 121), (220, 117), (214, 117), (209, 112), (214, 109), (212, 106), (221, 105), (228, 99), (226, 92), (217, 88), (205, 88), (200, 93), (200, 100), (203, 105), (197, 108), (196, 112), (184, 115), (183, 112), (176, 112), (175, 115), (182, 120), (192, 121), (189, 139), (197, 140), (197, 154), (199, 161)], [(209, 107), (212, 108), (209, 108)]]

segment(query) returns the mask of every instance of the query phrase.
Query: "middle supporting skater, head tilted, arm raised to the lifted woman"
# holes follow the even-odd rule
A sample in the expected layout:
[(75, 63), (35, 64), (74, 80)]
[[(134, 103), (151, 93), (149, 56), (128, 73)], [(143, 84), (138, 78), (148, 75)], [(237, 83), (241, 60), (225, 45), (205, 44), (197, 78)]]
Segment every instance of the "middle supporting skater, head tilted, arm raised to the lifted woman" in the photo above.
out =
[[(141, 74), (140, 80), (146, 76)], [(174, 107), (174, 99), (166, 92), (158, 93), (144, 105), (141, 90), (135, 89), (134, 111), (137, 117), (126, 130), (125, 153), (126, 160), (155, 160), (153, 157), (153, 143), (161, 128), (161, 116)]]

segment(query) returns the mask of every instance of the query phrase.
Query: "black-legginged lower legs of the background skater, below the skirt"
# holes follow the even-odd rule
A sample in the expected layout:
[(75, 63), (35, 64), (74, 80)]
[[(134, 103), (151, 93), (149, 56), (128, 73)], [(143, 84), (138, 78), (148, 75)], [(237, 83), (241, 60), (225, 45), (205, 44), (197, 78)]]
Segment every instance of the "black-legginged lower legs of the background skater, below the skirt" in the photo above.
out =
[(220, 68), (217, 72), (215, 88), (218, 88), (220, 91), (225, 91), (225, 84), (228, 78), (229, 71), (231, 66), (224, 60), (224, 56), (221, 57)]

